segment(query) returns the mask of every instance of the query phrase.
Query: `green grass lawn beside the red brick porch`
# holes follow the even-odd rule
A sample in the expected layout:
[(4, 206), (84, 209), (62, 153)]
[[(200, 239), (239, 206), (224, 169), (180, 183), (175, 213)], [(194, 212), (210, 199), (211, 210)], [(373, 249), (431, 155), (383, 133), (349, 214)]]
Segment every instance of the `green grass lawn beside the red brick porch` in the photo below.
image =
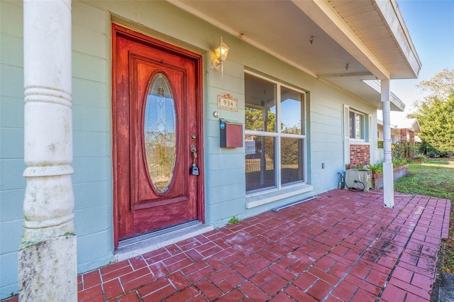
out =
[(454, 274), (454, 160), (437, 159), (409, 164), (409, 174), (394, 181), (394, 191), (447, 198), (451, 201), (449, 237), (443, 272)]

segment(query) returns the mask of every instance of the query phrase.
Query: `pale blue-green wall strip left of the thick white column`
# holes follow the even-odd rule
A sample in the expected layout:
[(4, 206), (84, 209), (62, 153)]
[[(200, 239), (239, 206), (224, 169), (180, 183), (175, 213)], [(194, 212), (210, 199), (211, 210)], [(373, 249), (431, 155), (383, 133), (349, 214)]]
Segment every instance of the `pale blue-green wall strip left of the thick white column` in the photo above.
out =
[[(0, 1), (0, 298), (17, 291), (23, 234), (23, 26), (21, 1)], [(12, 265), (11, 265), (12, 264)]]

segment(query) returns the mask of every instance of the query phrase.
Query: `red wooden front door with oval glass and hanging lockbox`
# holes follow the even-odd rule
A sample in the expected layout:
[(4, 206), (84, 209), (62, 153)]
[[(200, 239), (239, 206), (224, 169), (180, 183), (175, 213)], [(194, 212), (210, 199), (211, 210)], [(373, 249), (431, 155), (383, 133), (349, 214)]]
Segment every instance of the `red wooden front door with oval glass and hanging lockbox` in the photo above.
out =
[[(113, 25), (118, 240), (201, 220), (198, 55)], [(194, 163), (199, 175), (190, 174)]]

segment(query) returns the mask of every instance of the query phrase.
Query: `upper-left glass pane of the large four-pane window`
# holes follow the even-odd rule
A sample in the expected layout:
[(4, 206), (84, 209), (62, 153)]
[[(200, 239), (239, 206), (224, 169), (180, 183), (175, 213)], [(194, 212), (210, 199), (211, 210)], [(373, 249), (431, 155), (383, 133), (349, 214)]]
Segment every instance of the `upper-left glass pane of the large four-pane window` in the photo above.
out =
[(276, 85), (245, 75), (245, 130), (276, 132)]

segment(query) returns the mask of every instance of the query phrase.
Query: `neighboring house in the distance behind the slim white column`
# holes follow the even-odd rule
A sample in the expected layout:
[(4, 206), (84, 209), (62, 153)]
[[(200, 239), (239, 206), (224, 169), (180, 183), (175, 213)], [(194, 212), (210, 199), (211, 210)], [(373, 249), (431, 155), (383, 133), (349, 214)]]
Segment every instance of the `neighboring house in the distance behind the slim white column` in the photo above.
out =
[[(391, 142), (410, 142), (420, 141), (416, 133), (421, 132), (417, 118), (404, 118), (397, 125), (391, 125)], [(377, 135), (383, 139), (383, 121), (377, 120)]]

